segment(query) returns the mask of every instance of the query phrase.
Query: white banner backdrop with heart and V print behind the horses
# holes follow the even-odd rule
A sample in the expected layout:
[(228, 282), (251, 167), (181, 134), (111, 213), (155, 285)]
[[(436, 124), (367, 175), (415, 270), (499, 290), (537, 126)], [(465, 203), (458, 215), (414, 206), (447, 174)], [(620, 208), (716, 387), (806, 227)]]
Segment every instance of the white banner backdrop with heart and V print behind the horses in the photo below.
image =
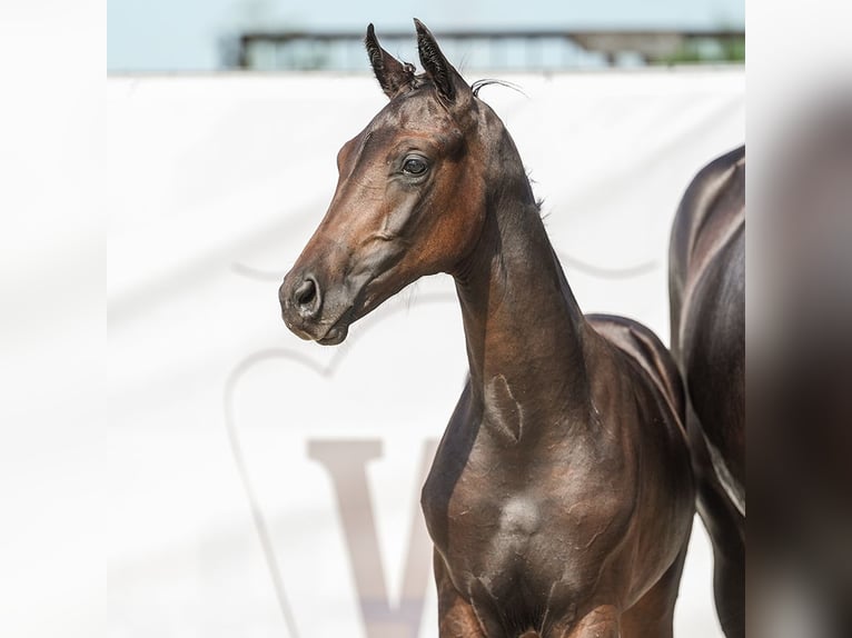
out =
[[(667, 340), (668, 228), (695, 171), (744, 140), (742, 69), (505, 79), (525, 94), (481, 97), (581, 306)], [(107, 89), (109, 635), (437, 636), (418, 492), (466, 371), (452, 281), (420, 281), (337, 348), (290, 335), (277, 300), (380, 90), (327, 74)], [(696, 521), (681, 636), (721, 636), (711, 565)]]

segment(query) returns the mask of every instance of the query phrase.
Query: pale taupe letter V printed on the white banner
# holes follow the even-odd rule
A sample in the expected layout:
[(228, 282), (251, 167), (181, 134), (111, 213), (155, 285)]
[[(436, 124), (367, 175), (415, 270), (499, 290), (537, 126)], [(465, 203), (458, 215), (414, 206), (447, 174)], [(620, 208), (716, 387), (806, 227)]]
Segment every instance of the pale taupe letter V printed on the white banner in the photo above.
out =
[[(424, 443), (419, 485), (426, 479), (437, 441)], [(392, 609), (367, 485), (367, 461), (382, 456), (382, 441), (311, 440), (308, 456), (331, 476), (343, 520), (367, 638), (417, 638), (432, 565), (432, 542), (414, 508), (399, 605)], [(418, 499), (419, 500), (419, 499)]]

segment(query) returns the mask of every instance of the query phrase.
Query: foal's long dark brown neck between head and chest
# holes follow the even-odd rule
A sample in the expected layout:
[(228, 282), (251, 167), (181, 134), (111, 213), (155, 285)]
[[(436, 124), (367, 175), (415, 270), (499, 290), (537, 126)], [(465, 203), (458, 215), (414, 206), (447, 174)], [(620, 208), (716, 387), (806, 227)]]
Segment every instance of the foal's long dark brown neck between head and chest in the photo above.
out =
[[(455, 273), (470, 386), (487, 420), (515, 442), (532, 423), (588, 409), (591, 330), (547, 239), (508, 133), (477, 246)], [(573, 420), (573, 419), (571, 419)], [(527, 426), (526, 430), (524, 426)]]

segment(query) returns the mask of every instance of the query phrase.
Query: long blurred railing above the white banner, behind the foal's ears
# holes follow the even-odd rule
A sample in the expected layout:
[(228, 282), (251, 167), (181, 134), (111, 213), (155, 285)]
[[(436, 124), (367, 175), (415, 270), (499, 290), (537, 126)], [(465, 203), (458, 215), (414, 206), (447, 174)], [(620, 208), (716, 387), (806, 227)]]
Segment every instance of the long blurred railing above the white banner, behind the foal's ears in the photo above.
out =
[[(435, 30), (444, 52), (465, 69), (558, 70), (582, 67), (739, 62), (742, 30), (476, 31)], [(416, 61), (414, 36), (379, 32), (383, 47)], [(365, 70), (364, 34), (334, 31), (250, 31), (226, 48), (225, 66), (251, 70)]]

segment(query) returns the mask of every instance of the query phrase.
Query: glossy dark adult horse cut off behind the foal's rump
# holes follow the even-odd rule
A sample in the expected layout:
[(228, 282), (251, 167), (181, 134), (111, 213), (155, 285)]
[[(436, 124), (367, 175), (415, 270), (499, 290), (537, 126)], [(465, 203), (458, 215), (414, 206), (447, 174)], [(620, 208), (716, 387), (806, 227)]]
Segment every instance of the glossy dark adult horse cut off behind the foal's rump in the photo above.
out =
[(687, 398), (699, 512), (713, 542), (716, 610), (745, 635), (745, 148), (704, 167), (670, 249), (672, 350)]

